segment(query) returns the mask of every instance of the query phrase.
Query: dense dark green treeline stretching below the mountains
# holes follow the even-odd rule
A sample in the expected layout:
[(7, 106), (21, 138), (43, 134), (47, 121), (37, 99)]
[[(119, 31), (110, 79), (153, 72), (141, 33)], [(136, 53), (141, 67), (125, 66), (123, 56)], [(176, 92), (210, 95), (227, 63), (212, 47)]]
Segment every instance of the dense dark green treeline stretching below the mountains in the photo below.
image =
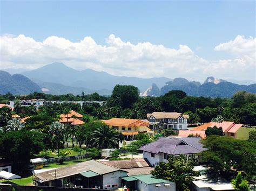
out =
[[(98, 104), (80, 105), (64, 104), (60, 108), (72, 108), (82, 114), (89, 114), (100, 119), (112, 117), (121, 118), (146, 118), (147, 113), (154, 111), (182, 112), (190, 115), (189, 123), (207, 123), (210, 121), (233, 121), (248, 125), (256, 125), (256, 95), (239, 91), (232, 98), (211, 98), (187, 96), (184, 91), (172, 90), (160, 97), (140, 97), (138, 88), (134, 86), (114, 87), (110, 97), (100, 96), (97, 93), (90, 95), (47, 95), (43, 93), (33, 93), (27, 96), (18, 96), (17, 99), (43, 98), (45, 100), (92, 100), (106, 101), (103, 107)], [(0, 100), (14, 100), (11, 94), (1, 95)], [(51, 105), (51, 110), (58, 110), (55, 114), (60, 114), (58, 105)], [(47, 110), (47, 109), (46, 109)], [(17, 114), (28, 116), (30, 112), (17, 111)], [(32, 112), (33, 110), (31, 110)], [(33, 113), (31, 113), (33, 114)]]

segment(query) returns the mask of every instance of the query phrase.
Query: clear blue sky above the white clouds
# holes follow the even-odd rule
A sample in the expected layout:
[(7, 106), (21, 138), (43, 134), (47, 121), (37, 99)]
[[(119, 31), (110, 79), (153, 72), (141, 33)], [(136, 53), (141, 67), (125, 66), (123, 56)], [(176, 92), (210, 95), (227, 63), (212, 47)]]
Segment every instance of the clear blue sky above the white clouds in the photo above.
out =
[(255, 2), (1, 1), (4, 34), (35, 41), (57, 36), (73, 43), (90, 36), (99, 45), (114, 34), (134, 45), (186, 45), (200, 58), (216, 61), (231, 59), (231, 52), (214, 51), (219, 44), (238, 35), (255, 38)]

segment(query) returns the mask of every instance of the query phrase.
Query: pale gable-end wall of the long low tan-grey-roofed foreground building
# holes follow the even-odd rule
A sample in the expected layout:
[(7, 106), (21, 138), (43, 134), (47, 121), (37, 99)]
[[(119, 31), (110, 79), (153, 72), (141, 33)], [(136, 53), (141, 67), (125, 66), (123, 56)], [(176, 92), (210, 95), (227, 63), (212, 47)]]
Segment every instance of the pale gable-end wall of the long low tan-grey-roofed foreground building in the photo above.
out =
[[(103, 189), (107, 188), (107, 189), (117, 189), (119, 187), (121, 187), (121, 179), (120, 177), (124, 177), (127, 176), (126, 172), (123, 171), (116, 171), (113, 173), (109, 173), (109, 174), (104, 174), (103, 175)], [(110, 185), (110, 187), (105, 187), (105, 185)], [(117, 185), (115, 187), (112, 187), (112, 185)]]

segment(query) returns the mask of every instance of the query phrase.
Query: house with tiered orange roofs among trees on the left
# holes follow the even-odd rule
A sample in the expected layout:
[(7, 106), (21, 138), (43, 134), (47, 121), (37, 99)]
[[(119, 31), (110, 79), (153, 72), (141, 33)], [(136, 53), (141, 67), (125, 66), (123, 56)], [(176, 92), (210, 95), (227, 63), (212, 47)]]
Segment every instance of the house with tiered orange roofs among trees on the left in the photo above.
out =
[[(76, 117), (74, 117), (76, 116)], [(79, 114), (76, 111), (69, 111), (68, 114), (60, 114), (59, 122), (69, 125), (83, 125), (84, 122), (81, 120), (83, 115)]]

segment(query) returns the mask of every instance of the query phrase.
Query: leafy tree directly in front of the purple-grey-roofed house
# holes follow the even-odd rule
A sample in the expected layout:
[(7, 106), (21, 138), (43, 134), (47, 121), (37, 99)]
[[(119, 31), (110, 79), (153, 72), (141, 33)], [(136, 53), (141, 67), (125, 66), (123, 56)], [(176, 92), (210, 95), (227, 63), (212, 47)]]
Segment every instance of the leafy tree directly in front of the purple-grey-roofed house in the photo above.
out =
[(194, 159), (190, 158), (186, 160), (184, 155), (168, 159), (169, 162), (160, 162), (153, 171), (152, 176), (156, 178), (174, 181), (176, 183), (177, 190), (190, 190), (189, 187), (193, 181), (194, 176), (199, 176), (198, 171), (194, 171)]

